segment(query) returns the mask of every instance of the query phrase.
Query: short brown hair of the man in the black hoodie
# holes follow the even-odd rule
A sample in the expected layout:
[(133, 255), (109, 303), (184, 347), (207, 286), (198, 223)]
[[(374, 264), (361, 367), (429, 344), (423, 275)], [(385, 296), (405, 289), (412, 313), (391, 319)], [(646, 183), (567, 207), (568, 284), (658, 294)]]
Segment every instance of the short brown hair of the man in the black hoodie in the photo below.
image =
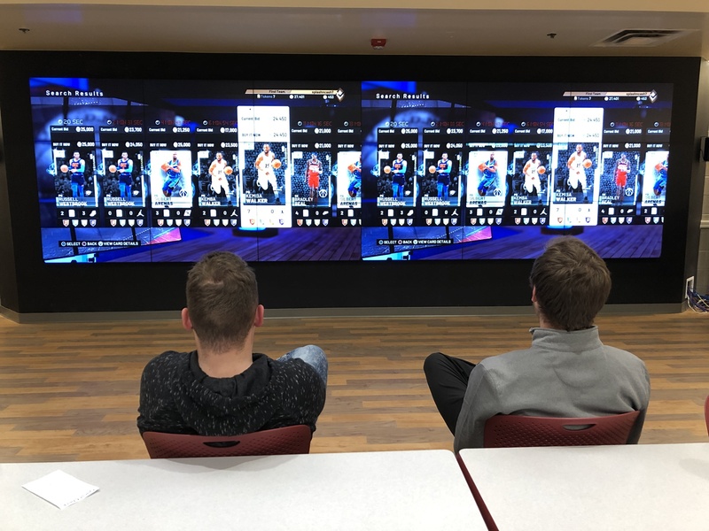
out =
[(259, 304), (256, 274), (237, 255), (215, 251), (187, 276), (187, 310), (199, 342), (223, 352), (244, 344)]

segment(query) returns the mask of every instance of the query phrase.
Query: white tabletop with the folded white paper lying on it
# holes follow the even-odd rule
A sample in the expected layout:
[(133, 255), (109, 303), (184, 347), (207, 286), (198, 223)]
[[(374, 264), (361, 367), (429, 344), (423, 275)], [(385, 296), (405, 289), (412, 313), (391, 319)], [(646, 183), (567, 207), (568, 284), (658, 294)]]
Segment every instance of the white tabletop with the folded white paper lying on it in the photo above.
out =
[[(100, 490), (59, 510), (22, 489), (63, 470)], [(0, 529), (485, 529), (447, 450), (0, 465)]]

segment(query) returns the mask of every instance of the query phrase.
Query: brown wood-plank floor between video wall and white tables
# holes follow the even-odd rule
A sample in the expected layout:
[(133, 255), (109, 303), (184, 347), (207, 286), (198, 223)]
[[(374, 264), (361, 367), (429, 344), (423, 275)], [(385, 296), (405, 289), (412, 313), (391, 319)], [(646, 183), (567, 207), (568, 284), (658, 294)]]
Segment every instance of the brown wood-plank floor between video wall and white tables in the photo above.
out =
[[(597, 319), (604, 342), (643, 358), (651, 404), (641, 443), (707, 442), (709, 316)], [(316, 343), (330, 359), (313, 452), (452, 449), (422, 364), (525, 348), (534, 316), (267, 319), (256, 350)], [(146, 458), (136, 430), (140, 374), (162, 350), (191, 350), (179, 322), (19, 325), (0, 317), (0, 462)]]

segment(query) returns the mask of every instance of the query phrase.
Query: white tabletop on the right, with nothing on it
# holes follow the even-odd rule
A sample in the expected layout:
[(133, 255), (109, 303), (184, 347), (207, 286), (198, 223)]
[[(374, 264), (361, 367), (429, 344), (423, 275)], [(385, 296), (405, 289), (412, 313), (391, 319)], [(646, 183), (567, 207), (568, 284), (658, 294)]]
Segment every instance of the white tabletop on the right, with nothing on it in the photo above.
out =
[(460, 452), (501, 529), (709, 529), (709, 443)]

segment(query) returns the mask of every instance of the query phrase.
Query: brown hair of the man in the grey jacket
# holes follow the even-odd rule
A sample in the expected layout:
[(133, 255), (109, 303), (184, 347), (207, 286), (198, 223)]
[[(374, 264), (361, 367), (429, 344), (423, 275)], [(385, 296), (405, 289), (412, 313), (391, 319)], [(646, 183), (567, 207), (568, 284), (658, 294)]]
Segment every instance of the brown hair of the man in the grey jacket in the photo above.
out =
[(592, 327), (611, 292), (611, 273), (603, 258), (572, 236), (547, 244), (534, 261), (529, 281), (542, 316), (569, 332)]

